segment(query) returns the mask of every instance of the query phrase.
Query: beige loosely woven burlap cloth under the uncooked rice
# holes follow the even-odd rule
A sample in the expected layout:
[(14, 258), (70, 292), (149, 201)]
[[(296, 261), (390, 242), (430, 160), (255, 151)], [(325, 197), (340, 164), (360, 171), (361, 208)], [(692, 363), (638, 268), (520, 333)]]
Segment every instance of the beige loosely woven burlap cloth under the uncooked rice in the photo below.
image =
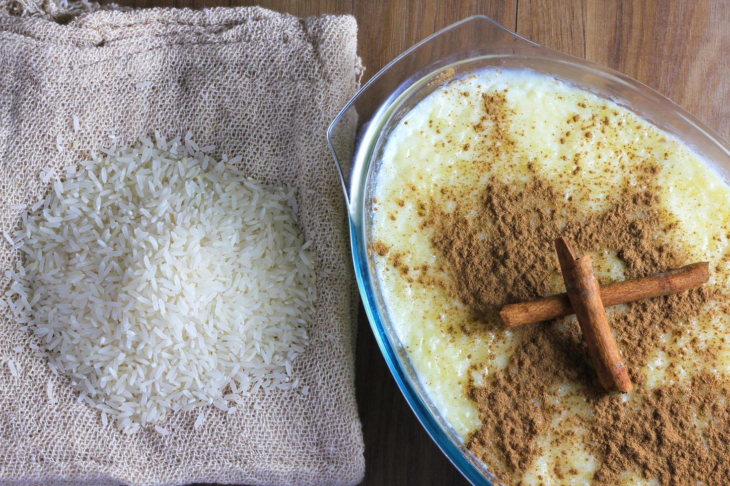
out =
[[(0, 14), (0, 230), (10, 205), (47, 190), (39, 169), (88, 147), (188, 130), (242, 154), (251, 176), (296, 187), (301, 226), (319, 257), (317, 315), (296, 376), (307, 395), (257, 396), (224, 415), (172, 414), (161, 436), (125, 436), (76, 401), (63, 377), (0, 318), (0, 479), (5, 483), (355, 483), (364, 472), (353, 388), (353, 296), (345, 210), (325, 132), (358, 86), (352, 17), (300, 20), (260, 8), (95, 12), (67, 25)], [(150, 85), (147, 86), (149, 82)], [(140, 83), (143, 83), (138, 87)], [(81, 129), (74, 135), (73, 116)], [(86, 128), (88, 126), (88, 128)], [(61, 138), (61, 150), (56, 147)], [(78, 148), (72, 148), (72, 140)], [(0, 267), (19, 258), (0, 243)], [(7, 286), (7, 279), (2, 277)], [(15, 352), (12, 348), (20, 346)], [(58, 404), (49, 404), (53, 382)]]

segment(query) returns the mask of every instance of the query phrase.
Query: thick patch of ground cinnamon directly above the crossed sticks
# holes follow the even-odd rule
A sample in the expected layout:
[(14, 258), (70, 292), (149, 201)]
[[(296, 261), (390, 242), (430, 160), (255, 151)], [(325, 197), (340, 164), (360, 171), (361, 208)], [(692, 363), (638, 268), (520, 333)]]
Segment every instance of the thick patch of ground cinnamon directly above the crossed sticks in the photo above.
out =
[[(493, 177), (475, 215), (460, 204), (446, 213), (431, 202), (426, 217), (434, 222), (432, 243), (454, 281), (449, 291), (476, 313), (489, 314), (545, 295), (551, 282), (559, 283), (552, 241), (560, 235), (583, 251), (614, 248), (628, 267), (627, 278), (643, 276), (649, 267), (680, 266), (666, 246), (653, 243), (660, 219), (650, 205), (657, 198), (650, 190), (626, 192), (609, 211), (582, 221), (577, 206), (540, 179), (518, 190)], [(645, 217), (637, 219), (637, 213)], [(660, 263), (664, 268), (656, 268)]]

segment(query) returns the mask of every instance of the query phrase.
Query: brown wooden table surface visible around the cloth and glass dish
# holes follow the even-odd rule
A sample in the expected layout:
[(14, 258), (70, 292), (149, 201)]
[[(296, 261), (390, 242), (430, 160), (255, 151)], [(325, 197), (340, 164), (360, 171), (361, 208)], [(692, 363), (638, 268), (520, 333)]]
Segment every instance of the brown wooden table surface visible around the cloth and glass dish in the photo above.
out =
[[(528, 39), (644, 82), (730, 138), (730, 0), (117, 0), (132, 7), (261, 5), (355, 15), (372, 74), (450, 23), (485, 14)], [(365, 485), (465, 485), (396, 387), (361, 310), (356, 386)]]

